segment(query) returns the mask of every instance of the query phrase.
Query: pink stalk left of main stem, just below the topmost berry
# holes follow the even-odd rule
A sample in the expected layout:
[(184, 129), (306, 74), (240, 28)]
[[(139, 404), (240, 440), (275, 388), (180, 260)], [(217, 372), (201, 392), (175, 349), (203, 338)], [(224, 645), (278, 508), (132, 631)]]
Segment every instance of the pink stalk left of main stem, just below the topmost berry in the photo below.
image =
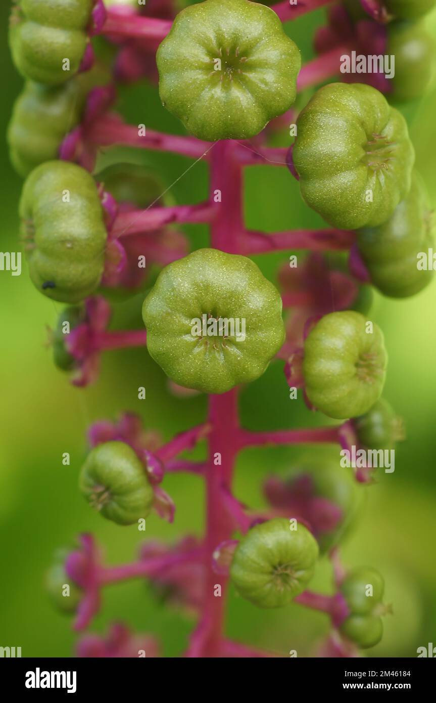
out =
[(95, 146), (133, 146), (140, 149), (171, 151), (192, 159), (199, 159), (211, 148), (208, 141), (200, 141), (190, 136), (164, 134), (146, 129), (140, 136), (139, 129), (133, 124), (122, 122), (116, 115), (103, 115), (86, 130), (86, 141)]

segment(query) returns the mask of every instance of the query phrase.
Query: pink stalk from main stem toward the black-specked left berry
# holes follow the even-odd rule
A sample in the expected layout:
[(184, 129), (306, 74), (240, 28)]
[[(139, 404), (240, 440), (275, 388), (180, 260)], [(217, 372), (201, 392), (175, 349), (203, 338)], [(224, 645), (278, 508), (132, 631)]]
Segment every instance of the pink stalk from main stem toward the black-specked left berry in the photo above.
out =
[(114, 220), (111, 234), (113, 237), (125, 237), (154, 231), (167, 224), (191, 222), (199, 224), (210, 222), (214, 214), (209, 202), (198, 205), (174, 205), (173, 207), (149, 207), (145, 210), (120, 212)]

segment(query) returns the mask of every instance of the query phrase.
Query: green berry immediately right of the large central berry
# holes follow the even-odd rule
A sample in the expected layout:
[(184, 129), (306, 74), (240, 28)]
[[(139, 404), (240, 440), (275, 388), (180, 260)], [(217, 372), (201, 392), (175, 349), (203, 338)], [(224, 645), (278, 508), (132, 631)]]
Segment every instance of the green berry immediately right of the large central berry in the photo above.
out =
[(325, 315), (304, 344), (308, 398), (330, 418), (363, 415), (381, 396), (386, 363), (383, 333), (375, 323), (351, 310)]

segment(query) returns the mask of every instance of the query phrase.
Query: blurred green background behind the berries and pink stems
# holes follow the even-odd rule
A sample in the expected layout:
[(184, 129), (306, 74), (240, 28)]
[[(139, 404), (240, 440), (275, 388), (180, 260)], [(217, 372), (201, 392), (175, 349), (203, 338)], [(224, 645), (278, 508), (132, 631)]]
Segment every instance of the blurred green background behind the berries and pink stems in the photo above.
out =
[[(0, 8), (1, 26), (7, 27), (8, 2)], [(303, 60), (312, 56), (310, 37), (321, 24), (323, 11), (288, 25)], [(436, 13), (428, 19), (436, 35)], [(11, 106), (22, 79), (9, 58), (6, 38), (0, 46), (3, 71), (1, 134), (5, 134)], [(146, 84), (122, 89), (119, 109), (126, 120), (161, 131), (183, 133), (180, 124), (159, 103), (157, 90)], [(436, 93), (403, 110), (409, 120), (417, 165), (436, 203)], [(17, 205), (21, 181), (8, 162), (6, 143), (1, 144), (2, 250), (19, 248)], [(115, 158), (112, 155), (111, 160)], [(189, 165), (183, 157), (140, 153), (140, 162), (153, 165), (166, 183), (172, 183)], [(207, 172), (196, 165), (180, 179), (172, 193), (178, 202), (196, 202), (206, 196)], [(246, 223), (250, 228), (276, 231), (322, 226), (303, 205), (296, 181), (286, 169), (246, 169)], [(192, 248), (207, 242), (203, 227), (187, 227)], [(275, 279), (277, 265), (286, 253), (256, 259)], [(161, 370), (145, 349), (108, 352), (95, 385), (75, 389), (56, 370), (46, 347), (46, 325), (55, 324), (62, 308), (39, 295), (22, 276), (0, 272), (0, 645), (22, 647), (22, 656), (74, 655), (76, 636), (70, 621), (52, 610), (42, 581), (53, 550), (71, 545), (74, 537), (91, 531), (104, 547), (107, 563), (132, 560), (142, 533), (121, 528), (92, 512), (77, 490), (77, 475), (86, 454), (86, 428), (99, 418), (114, 419), (124, 410), (140, 413), (147, 427), (169, 439), (206, 413), (206, 398), (177, 399), (166, 388)], [(142, 326), (138, 296), (114, 311), (114, 328)], [(383, 641), (369, 656), (416, 657), (418, 646), (436, 643), (435, 515), (435, 389), (436, 389), (436, 285), (412, 299), (376, 299), (372, 317), (385, 333), (390, 353), (385, 396), (407, 427), (407, 441), (399, 446), (396, 470), (380, 475), (378, 484), (364, 493), (364, 507), (355, 529), (343, 547), (347, 565), (374, 565), (385, 575), (388, 602), (394, 614), (385, 619)], [(139, 401), (138, 387), (147, 399)], [(290, 401), (282, 363), (241, 395), (242, 419), (253, 429), (303, 427), (325, 422), (312, 416), (302, 401)], [(62, 465), (70, 452), (71, 465)], [(317, 450), (319, 452), (319, 450)], [(323, 449), (327, 456), (330, 450)], [(237, 463), (235, 492), (245, 503), (263, 505), (260, 485), (270, 472), (284, 473), (300, 456), (311, 456), (310, 447), (256, 449), (243, 453)], [(335, 455), (337, 456), (337, 455)], [(200, 479), (173, 475), (164, 487), (176, 501), (176, 520), (169, 525), (154, 515), (147, 520), (148, 539), (176, 541), (189, 531), (201, 534), (204, 496)], [(319, 563), (311, 584), (329, 591), (329, 563)], [(178, 656), (187, 643), (194, 621), (186, 614), (162, 607), (142, 581), (110, 586), (103, 609), (93, 624), (103, 632), (114, 619), (124, 620), (137, 631), (156, 634), (164, 655)], [(293, 605), (284, 611), (263, 612), (230, 593), (227, 631), (253, 646), (269, 647), (286, 655), (310, 656), (328, 630), (326, 617)]]

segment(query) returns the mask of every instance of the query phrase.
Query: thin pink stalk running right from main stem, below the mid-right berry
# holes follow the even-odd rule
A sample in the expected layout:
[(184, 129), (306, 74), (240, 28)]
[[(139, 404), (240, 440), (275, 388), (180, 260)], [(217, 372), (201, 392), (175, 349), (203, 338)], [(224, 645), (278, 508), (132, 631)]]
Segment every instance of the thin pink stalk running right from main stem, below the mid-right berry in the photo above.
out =
[(336, 444), (339, 430), (336, 427), (310, 427), (308, 430), (275, 430), (273, 432), (250, 432), (239, 430), (239, 447), (263, 446), (268, 444)]

